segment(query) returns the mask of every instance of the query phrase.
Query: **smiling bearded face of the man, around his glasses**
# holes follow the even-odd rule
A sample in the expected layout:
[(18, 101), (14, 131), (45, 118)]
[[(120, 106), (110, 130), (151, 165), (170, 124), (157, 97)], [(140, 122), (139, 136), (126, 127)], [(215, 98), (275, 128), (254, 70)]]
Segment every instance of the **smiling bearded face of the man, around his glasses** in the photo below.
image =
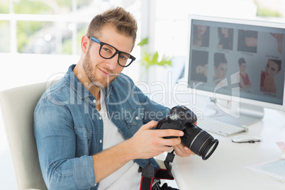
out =
[[(97, 38), (103, 43), (113, 45), (122, 52), (130, 53), (132, 50), (133, 38), (117, 33), (111, 24), (106, 24)], [(90, 40), (83, 60), (83, 68), (92, 84), (106, 88), (118, 77), (123, 67), (118, 65), (118, 54), (111, 59), (104, 59), (99, 55), (99, 50), (100, 44)]]

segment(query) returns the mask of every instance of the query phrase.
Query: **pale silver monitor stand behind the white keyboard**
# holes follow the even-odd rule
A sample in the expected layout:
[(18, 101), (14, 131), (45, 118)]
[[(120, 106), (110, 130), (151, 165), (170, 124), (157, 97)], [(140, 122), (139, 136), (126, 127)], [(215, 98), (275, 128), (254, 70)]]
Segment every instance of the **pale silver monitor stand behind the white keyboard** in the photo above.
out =
[(264, 108), (220, 99), (211, 99), (204, 116), (246, 127), (261, 121)]

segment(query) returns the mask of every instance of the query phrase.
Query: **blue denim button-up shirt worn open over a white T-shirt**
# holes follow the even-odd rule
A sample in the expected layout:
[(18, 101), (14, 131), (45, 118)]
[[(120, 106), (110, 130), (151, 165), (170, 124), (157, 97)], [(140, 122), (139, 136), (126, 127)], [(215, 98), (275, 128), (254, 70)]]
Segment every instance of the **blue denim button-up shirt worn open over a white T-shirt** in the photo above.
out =
[[(65, 77), (45, 91), (34, 112), (34, 135), (48, 189), (98, 189), (91, 155), (103, 149), (103, 120), (95, 97), (69, 67)], [(133, 81), (120, 74), (106, 89), (111, 121), (127, 140), (145, 123), (169, 112), (148, 99)], [(142, 142), (143, 143), (143, 142)], [(148, 160), (135, 160), (145, 167)], [(158, 169), (155, 160), (152, 166)]]

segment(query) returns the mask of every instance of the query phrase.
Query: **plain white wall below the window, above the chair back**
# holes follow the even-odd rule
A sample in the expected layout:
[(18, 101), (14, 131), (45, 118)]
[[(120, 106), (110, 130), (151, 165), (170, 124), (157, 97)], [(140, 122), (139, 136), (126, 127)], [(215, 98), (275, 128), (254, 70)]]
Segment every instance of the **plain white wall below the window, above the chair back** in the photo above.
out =
[(0, 54), (0, 91), (63, 76), (79, 56)]

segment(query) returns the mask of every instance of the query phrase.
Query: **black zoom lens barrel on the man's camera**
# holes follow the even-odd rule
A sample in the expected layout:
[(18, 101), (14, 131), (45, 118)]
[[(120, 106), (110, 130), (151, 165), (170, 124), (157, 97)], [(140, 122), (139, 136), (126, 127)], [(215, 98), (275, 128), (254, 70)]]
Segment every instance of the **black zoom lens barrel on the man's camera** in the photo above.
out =
[(192, 123), (188, 123), (184, 128), (184, 136), (181, 137), (181, 142), (196, 155), (201, 156), (203, 160), (207, 160), (218, 146), (218, 140)]

